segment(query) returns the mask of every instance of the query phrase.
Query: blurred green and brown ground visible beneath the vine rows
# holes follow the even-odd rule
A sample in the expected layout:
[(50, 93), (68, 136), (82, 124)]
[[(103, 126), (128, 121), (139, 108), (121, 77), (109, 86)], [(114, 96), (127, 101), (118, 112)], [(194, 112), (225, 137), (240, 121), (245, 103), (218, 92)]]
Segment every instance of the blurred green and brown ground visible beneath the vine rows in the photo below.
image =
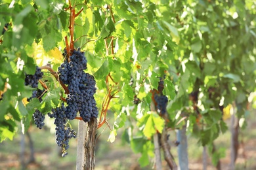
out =
[[(49, 131), (40, 131), (32, 129), (32, 138), (35, 146), (35, 162), (26, 164), (25, 169), (75, 169), (76, 161), (76, 142), (70, 141), (69, 154), (65, 158), (60, 157), (59, 149), (54, 143), (54, 134)], [(109, 134), (109, 132), (106, 132)], [(121, 134), (120, 134), (121, 135)], [(102, 139), (108, 139), (102, 137)], [(236, 169), (256, 169), (256, 114), (251, 119), (251, 124), (248, 124), (245, 130), (240, 133), (240, 148), (238, 150), (238, 158), (236, 160)], [(96, 170), (139, 170), (139, 169), (154, 169), (152, 165), (148, 167), (140, 167), (138, 160), (139, 154), (134, 154), (131, 148), (125, 144), (121, 144), (121, 140), (117, 139), (114, 143), (108, 143), (106, 140), (101, 140), (96, 152)], [(226, 148), (226, 156), (221, 159), (221, 169), (229, 169), (230, 163), (230, 134), (225, 133), (221, 139), (217, 139), (216, 145)], [(202, 167), (202, 146), (196, 146), (196, 141), (189, 139), (188, 143), (189, 169), (200, 170)], [(192, 148), (192, 145), (194, 148)], [(172, 146), (173, 155), (177, 157), (177, 148)], [(176, 152), (176, 153), (175, 153)], [(22, 169), (21, 158), (26, 162), (30, 160), (30, 149), (28, 140), (26, 140), (26, 150), (24, 155), (20, 155), (20, 137), (15, 137), (14, 141), (4, 141), (0, 143), (0, 170)], [(215, 169), (211, 163), (211, 158), (208, 158), (207, 169)], [(165, 166), (165, 161), (163, 161)]]

